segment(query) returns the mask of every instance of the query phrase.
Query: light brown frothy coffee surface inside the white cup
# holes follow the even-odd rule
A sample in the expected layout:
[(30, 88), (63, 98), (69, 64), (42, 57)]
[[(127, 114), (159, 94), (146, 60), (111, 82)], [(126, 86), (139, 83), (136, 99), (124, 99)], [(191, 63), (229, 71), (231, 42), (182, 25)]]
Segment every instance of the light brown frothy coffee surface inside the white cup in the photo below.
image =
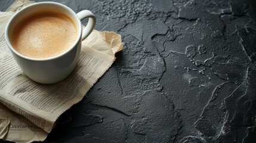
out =
[(50, 58), (71, 48), (77, 35), (75, 24), (66, 15), (39, 11), (18, 22), (12, 43), (26, 57)]

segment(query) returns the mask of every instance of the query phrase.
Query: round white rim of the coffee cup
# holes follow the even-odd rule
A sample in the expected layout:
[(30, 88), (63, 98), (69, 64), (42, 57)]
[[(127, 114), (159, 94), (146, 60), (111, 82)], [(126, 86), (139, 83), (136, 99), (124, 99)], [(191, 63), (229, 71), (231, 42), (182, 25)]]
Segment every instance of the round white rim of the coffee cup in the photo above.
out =
[[(22, 55), (20, 54), (19, 52), (17, 52), (13, 45), (11, 44), (10, 42), (10, 38), (8, 36), (8, 32), (9, 32), (9, 27), (10, 27), (10, 24), (12, 23), (12, 21), (17, 17), (17, 15), (19, 15), (21, 13), (21, 11), (24, 11), (26, 10), (27, 8), (30, 8), (30, 7), (35, 7), (36, 5), (42, 5), (42, 4), (53, 4), (53, 5), (58, 5), (60, 7), (63, 7), (65, 8), (66, 10), (68, 10), (70, 13), (72, 13), (72, 15), (75, 15), (75, 18), (76, 20), (74, 20), (75, 23), (77, 23), (78, 21), (78, 26), (76, 26), (77, 28), (77, 32), (78, 32), (78, 37), (76, 38), (76, 41), (75, 43), (65, 52), (61, 53), (60, 55), (56, 55), (54, 57), (49, 57), (49, 58), (30, 58), (30, 57), (27, 57), (25, 55)], [(71, 17), (70, 17), (71, 18)], [(19, 10), (16, 14), (14, 14), (11, 19), (8, 21), (7, 23), (7, 26), (5, 27), (5, 42), (7, 42), (7, 45), (9, 47), (9, 49), (11, 49), (11, 51), (18, 55), (18, 57), (21, 57), (21, 58), (24, 58), (26, 60), (30, 60), (30, 61), (50, 61), (50, 60), (54, 60), (56, 58), (59, 58), (59, 57), (62, 57), (63, 55), (66, 55), (69, 51), (71, 51), (73, 48), (75, 48), (75, 45), (78, 44), (78, 42), (81, 40), (81, 36), (82, 36), (82, 24), (81, 24), (81, 20), (78, 18), (78, 16), (76, 15), (76, 13), (69, 7), (67, 7), (66, 5), (64, 4), (60, 4), (58, 2), (37, 2), (35, 4), (31, 4), (31, 5), (28, 5), (27, 7), (24, 7), (22, 8), (21, 10)]]

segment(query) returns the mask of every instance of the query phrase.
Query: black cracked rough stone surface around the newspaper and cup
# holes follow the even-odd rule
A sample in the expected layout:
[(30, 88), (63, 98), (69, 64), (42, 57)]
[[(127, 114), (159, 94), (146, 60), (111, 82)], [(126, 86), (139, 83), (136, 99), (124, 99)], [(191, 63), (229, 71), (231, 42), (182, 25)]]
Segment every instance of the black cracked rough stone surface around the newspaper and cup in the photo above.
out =
[(57, 2), (124, 49), (44, 142), (256, 141), (255, 0)]

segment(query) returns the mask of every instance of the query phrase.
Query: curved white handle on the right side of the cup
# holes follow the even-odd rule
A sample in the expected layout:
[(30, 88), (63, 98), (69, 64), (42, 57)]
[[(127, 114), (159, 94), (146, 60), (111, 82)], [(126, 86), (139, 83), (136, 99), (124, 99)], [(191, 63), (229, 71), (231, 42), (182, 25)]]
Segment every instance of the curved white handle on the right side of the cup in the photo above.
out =
[(85, 26), (85, 29), (82, 31), (82, 41), (83, 41), (85, 38), (87, 38), (90, 35), (92, 30), (94, 29), (96, 19), (95, 19), (94, 14), (88, 10), (80, 11), (76, 15), (78, 15), (78, 18), (81, 21), (84, 20), (85, 18), (89, 18), (89, 21), (88, 21), (87, 25)]

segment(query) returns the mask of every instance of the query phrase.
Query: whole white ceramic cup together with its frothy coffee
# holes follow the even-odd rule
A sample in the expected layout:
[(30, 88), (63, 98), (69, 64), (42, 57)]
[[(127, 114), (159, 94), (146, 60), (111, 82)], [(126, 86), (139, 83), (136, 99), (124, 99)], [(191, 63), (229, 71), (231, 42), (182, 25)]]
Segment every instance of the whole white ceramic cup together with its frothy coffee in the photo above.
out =
[[(88, 18), (82, 29), (81, 20)], [(95, 26), (91, 11), (75, 13), (57, 2), (38, 2), (11, 17), (5, 41), (27, 77), (51, 84), (72, 73), (80, 57), (82, 41)]]

